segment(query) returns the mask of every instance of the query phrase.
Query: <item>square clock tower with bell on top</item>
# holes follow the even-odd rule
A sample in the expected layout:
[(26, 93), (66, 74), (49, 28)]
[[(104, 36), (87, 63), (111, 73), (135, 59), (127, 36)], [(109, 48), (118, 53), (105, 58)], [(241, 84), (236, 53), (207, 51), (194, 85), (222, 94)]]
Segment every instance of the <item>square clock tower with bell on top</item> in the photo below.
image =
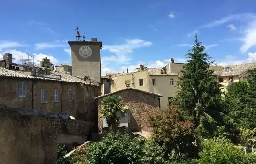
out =
[(89, 76), (91, 81), (101, 82), (102, 42), (92, 38), (91, 41), (77, 40), (68, 43), (71, 47), (72, 75), (80, 78)]

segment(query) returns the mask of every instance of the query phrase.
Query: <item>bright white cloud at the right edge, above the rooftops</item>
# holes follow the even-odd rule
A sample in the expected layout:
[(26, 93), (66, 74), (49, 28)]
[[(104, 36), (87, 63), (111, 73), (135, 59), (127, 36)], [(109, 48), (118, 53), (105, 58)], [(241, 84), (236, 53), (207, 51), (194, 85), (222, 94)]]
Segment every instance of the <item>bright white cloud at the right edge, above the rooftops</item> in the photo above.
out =
[(256, 46), (256, 19), (249, 23), (245, 29), (245, 36), (243, 45), (240, 47), (242, 53), (246, 52), (249, 48)]

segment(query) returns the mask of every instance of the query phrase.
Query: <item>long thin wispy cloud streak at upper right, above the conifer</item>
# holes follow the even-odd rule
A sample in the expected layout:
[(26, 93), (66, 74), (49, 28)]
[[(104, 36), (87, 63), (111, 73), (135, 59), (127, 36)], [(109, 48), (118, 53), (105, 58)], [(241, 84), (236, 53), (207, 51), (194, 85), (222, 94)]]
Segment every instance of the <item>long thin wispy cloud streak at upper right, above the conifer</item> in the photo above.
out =
[(232, 20), (245, 21), (245, 20), (251, 20), (251, 19), (255, 19), (255, 15), (253, 15), (251, 13), (234, 14), (234, 15), (229, 15), (229, 16), (223, 17), (219, 20), (210, 22), (209, 24), (204, 25), (202, 27), (215, 27), (215, 26), (218, 26), (218, 25), (222, 25), (226, 22), (230, 22)]

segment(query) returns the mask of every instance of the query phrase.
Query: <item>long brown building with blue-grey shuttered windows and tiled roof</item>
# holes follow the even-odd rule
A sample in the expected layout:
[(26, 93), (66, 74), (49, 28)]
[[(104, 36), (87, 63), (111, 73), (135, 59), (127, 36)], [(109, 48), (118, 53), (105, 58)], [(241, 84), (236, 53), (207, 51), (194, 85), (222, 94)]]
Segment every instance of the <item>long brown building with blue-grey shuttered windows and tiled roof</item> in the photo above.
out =
[(0, 84), (0, 104), (46, 112), (68, 111), (76, 119), (97, 121), (94, 97), (101, 95), (99, 85), (54, 70), (50, 75), (32, 76), (29, 71), (5, 68), (0, 68)]

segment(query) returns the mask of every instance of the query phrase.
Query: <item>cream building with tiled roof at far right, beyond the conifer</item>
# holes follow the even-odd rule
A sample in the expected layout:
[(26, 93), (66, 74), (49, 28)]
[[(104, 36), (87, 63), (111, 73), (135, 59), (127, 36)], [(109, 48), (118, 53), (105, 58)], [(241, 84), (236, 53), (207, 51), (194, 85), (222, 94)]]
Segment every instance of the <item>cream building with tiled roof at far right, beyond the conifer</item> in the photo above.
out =
[(249, 71), (252, 69), (256, 69), (256, 63), (226, 66), (219, 71), (215, 71), (214, 74), (217, 75), (217, 82), (221, 83), (223, 89), (226, 90), (233, 82), (244, 81), (247, 77), (250, 77)]

